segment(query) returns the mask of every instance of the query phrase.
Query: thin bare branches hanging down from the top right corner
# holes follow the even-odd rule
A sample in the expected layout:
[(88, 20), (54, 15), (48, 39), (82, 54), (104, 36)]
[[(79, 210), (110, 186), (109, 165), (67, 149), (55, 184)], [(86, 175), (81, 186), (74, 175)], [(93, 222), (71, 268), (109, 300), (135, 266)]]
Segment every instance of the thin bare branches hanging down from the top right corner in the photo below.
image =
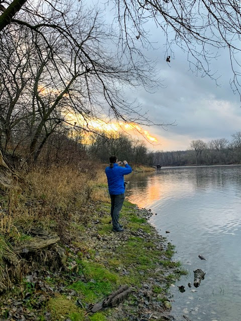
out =
[[(166, 38), (167, 61), (175, 57), (175, 46), (187, 53), (190, 69), (215, 79), (210, 64), (227, 48), (233, 72), (233, 91), (240, 87), (241, 7), (238, 0), (109, 0), (114, 3), (120, 39), (126, 50), (137, 51), (137, 41), (149, 44), (147, 22), (153, 21)], [(169, 58), (170, 57), (170, 58)], [(240, 92), (239, 92), (240, 94)]]

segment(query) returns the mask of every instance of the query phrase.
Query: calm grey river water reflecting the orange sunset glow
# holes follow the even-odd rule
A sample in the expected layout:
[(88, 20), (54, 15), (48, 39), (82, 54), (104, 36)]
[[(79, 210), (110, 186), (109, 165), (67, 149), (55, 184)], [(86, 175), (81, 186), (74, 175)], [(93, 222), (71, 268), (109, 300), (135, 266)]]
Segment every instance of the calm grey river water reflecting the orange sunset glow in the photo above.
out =
[[(128, 199), (157, 213), (151, 223), (176, 245), (175, 259), (189, 270), (171, 288), (177, 320), (241, 320), (241, 166), (164, 168), (126, 178)], [(206, 275), (191, 292), (187, 284), (196, 289), (197, 268)]]

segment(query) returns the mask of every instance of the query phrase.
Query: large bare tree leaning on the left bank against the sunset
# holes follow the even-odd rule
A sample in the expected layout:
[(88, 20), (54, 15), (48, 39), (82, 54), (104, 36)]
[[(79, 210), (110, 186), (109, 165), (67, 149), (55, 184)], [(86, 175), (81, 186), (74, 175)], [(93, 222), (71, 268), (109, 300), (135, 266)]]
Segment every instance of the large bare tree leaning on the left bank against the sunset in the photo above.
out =
[(134, 64), (130, 57), (116, 56), (110, 45), (118, 38), (98, 12), (64, 1), (57, 1), (57, 7), (41, 4), (34, 17), (30, 6), (1, 34), (5, 147), (11, 132), (25, 123), (28, 159), (36, 162), (57, 126), (72, 125), (69, 114), (76, 115), (76, 126), (87, 132), (95, 131), (89, 122), (102, 120), (103, 114), (106, 121), (150, 124), (138, 105), (122, 95), (122, 88), (152, 87), (151, 64), (143, 57)]

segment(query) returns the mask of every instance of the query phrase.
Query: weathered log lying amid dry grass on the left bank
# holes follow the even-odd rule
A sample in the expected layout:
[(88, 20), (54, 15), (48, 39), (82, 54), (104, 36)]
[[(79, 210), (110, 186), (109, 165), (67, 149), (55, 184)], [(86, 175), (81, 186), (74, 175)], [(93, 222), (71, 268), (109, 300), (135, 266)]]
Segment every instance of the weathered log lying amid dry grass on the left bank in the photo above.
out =
[(26, 241), (24, 244), (15, 246), (14, 252), (17, 254), (28, 253), (28, 252), (36, 252), (45, 247), (53, 245), (60, 240), (58, 235), (49, 235), (48, 238), (43, 237), (33, 237), (32, 239)]

